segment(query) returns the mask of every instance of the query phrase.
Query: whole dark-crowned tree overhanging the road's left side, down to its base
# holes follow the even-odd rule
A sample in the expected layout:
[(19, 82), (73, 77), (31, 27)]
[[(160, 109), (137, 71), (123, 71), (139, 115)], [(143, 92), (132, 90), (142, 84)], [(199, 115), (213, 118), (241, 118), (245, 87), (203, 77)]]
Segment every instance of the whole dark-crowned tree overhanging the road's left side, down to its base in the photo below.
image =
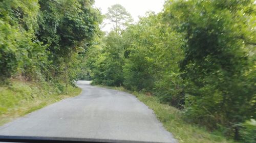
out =
[(70, 63), (79, 59), (77, 53), (91, 45), (98, 31), (99, 11), (89, 0), (40, 0), (39, 4), (37, 37), (48, 46), (50, 76), (65, 79), (67, 85), (75, 77)]

